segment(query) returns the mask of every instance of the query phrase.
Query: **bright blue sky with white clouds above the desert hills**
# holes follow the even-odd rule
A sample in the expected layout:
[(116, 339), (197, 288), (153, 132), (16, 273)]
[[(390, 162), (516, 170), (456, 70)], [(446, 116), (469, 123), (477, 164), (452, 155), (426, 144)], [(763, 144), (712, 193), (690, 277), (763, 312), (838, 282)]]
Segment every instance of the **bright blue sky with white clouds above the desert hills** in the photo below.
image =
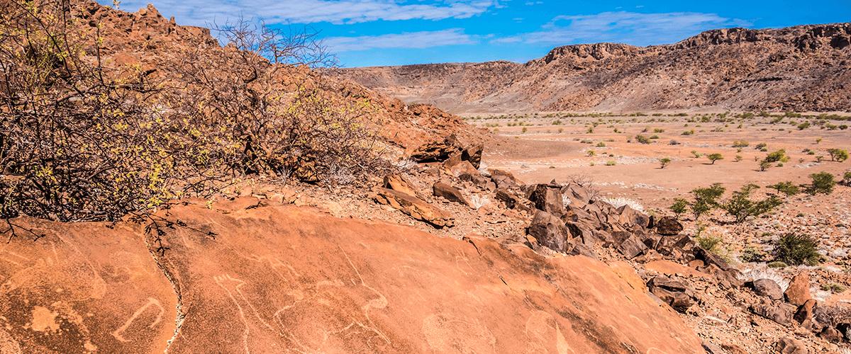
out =
[[(106, 0), (100, 0), (106, 3)], [(851, 0), (125, 0), (180, 25), (237, 17), (317, 31), (343, 67), (510, 60), (568, 44), (679, 42), (701, 31), (851, 21)]]

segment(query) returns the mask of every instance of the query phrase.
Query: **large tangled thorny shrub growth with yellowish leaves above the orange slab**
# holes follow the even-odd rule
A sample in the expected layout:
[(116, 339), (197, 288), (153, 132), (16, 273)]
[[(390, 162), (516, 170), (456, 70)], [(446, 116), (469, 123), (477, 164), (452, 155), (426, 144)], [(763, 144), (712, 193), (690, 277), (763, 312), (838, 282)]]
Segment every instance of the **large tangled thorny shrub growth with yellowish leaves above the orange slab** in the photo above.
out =
[(283, 88), (285, 70), (323, 62), (310, 34), (222, 28), (228, 49), (168, 56), (180, 81), (155, 81), (103, 65), (99, 27), (76, 4), (3, 6), (2, 217), (116, 220), (246, 174), (333, 184), (383, 166), (367, 100), (333, 98), (321, 81)]

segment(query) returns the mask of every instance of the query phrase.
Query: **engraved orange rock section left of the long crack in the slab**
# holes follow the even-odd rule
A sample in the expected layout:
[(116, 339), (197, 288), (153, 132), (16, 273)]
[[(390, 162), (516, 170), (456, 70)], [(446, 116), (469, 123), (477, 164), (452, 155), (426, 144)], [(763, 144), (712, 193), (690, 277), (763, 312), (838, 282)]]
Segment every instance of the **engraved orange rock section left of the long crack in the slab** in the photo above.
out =
[(141, 233), (95, 223), (26, 223), (45, 237), (33, 241), (19, 231), (0, 243), (0, 352), (166, 348), (177, 296)]

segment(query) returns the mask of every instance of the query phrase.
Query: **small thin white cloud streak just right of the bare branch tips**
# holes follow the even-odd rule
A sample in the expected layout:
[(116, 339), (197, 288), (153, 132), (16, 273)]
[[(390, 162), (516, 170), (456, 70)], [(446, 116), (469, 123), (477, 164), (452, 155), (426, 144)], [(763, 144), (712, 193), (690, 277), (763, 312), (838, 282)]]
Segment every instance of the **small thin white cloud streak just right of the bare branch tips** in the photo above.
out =
[(332, 53), (382, 48), (431, 48), (475, 43), (477, 43), (477, 39), (465, 34), (460, 28), (380, 36), (330, 37), (323, 40), (323, 44), (328, 46)]

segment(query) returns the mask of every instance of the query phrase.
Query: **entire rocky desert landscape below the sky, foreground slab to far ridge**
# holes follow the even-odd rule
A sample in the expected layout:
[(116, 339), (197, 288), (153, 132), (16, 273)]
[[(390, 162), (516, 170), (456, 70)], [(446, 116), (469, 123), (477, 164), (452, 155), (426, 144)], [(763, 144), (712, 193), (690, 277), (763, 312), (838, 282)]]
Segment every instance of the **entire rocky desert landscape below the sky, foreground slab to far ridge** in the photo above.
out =
[(851, 24), (332, 69), (0, 1), (0, 353), (851, 353)]

